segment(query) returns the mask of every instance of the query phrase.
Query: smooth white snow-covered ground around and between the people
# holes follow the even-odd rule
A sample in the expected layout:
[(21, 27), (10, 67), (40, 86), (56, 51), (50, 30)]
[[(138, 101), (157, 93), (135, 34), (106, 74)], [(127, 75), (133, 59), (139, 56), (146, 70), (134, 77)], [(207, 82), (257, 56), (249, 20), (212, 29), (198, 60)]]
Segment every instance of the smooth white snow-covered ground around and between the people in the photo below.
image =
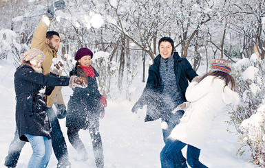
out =
[[(15, 130), (15, 99), (13, 84), (14, 66), (8, 62), (0, 62), (0, 167), (4, 167), (4, 159), (8, 153), (8, 147), (14, 136)], [(138, 83), (138, 91), (134, 97), (139, 97), (145, 84)], [(63, 88), (65, 103), (72, 93), (68, 87)], [(136, 98), (133, 102), (120, 99), (112, 101), (107, 99), (108, 105), (105, 118), (100, 121), (100, 134), (103, 139), (105, 154), (105, 167), (109, 168), (155, 168), (160, 167), (159, 154), (164, 146), (162, 141), (162, 130), (160, 120), (144, 123), (145, 108), (137, 114), (131, 112)], [(212, 136), (207, 141), (207, 147), (202, 149), (200, 160), (204, 165), (211, 168), (244, 167), (251, 168), (255, 165), (248, 163), (249, 153), (245, 156), (237, 156), (237, 136), (231, 125), (224, 121), (229, 120), (226, 112), (215, 119), (212, 127)], [(60, 120), (63, 134), (67, 142), (70, 162), (73, 168), (96, 167), (94, 154), (88, 130), (81, 130), (80, 136), (87, 152), (89, 161), (87, 163), (77, 162), (76, 151), (69, 143), (65, 128), (65, 119)], [(229, 131), (227, 131), (229, 130)], [(183, 149), (184, 155), (186, 148)], [(28, 160), (32, 154), (30, 143), (27, 143), (21, 152), (17, 168), (27, 167)], [(52, 154), (48, 167), (56, 167), (57, 160)]]

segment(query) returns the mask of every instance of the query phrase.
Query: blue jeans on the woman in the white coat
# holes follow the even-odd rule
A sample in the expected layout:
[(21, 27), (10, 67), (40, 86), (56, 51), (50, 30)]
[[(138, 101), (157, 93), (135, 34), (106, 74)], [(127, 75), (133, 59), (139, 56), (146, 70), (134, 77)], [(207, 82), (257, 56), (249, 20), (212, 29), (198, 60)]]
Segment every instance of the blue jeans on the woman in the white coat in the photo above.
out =
[[(175, 168), (176, 165), (180, 164), (180, 158), (176, 154), (183, 149), (187, 144), (181, 141), (173, 141), (169, 139), (160, 152), (160, 162), (161, 168)], [(205, 165), (199, 161), (200, 149), (188, 145), (187, 148), (187, 160), (191, 168), (207, 168)]]

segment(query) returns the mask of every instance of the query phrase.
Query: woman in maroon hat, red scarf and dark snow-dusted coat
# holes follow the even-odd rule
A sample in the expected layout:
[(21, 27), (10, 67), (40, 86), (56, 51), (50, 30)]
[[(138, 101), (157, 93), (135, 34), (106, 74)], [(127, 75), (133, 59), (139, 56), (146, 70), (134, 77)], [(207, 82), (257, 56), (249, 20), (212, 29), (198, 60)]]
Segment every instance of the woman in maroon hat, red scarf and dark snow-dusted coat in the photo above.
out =
[(78, 136), (79, 130), (89, 130), (97, 167), (104, 167), (104, 156), (99, 119), (104, 117), (107, 101), (98, 91), (96, 77), (98, 73), (91, 65), (93, 53), (90, 49), (81, 48), (76, 52), (76, 66), (70, 76), (76, 75), (87, 79), (87, 88), (73, 88), (73, 95), (67, 104), (66, 116), (67, 135), (70, 143), (76, 149), (78, 160), (87, 160), (85, 145)]

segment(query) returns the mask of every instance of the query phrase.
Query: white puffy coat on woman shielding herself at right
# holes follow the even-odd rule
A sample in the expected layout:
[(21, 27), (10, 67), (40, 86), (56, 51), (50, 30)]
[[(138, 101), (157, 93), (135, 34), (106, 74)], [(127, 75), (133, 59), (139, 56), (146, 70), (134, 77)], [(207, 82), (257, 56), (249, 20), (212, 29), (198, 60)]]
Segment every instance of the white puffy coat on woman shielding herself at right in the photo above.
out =
[(224, 80), (211, 75), (200, 83), (191, 82), (186, 91), (186, 98), (191, 104), (169, 138), (202, 149), (213, 118), (224, 110), (226, 104), (238, 104), (240, 101), (239, 95), (224, 84)]

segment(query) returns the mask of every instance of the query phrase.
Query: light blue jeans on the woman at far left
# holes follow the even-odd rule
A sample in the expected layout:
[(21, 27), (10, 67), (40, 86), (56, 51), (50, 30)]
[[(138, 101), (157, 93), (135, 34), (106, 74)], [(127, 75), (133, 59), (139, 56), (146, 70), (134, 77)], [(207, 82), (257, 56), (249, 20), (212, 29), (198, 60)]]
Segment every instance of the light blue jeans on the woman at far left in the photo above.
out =
[(25, 134), (32, 147), (33, 154), (28, 162), (28, 168), (47, 167), (52, 155), (52, 141), (45, 136)]

